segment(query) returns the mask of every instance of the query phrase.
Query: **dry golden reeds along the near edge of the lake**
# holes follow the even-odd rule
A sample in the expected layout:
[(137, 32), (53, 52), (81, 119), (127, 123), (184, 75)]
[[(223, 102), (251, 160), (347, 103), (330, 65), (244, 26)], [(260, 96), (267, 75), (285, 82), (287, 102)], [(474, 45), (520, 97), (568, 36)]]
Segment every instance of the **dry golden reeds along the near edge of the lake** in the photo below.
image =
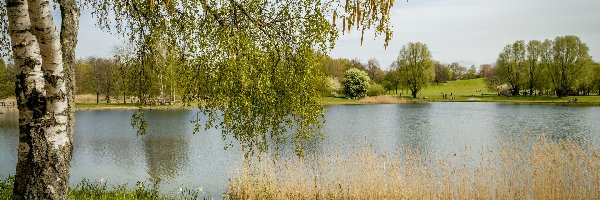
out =
[[(416, 151), (247, 159), (229, 199), (598, 199), (600, 150), (544, 136), (475, 159)], [(465, 154), (466, 155), (466, 154)]]

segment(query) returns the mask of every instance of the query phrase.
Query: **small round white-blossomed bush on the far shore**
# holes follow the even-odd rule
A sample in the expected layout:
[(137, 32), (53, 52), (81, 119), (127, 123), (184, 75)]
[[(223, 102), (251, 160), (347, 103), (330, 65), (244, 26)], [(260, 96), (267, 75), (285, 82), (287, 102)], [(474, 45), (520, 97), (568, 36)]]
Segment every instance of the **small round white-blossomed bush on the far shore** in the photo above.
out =
[(367, 96), (369, 88), (369, 75), (367, 72), (356, 68), (350, 68), (344, 74), (344, 95), (349, 99), (360, 99)]

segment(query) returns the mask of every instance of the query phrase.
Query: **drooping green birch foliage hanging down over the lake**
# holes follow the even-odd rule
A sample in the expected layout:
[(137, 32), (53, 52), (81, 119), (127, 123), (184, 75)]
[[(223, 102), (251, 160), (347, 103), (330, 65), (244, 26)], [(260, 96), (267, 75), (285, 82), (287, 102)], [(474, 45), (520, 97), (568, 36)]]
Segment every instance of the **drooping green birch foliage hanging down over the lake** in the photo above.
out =
[[(393, 1), (123, 1), (90, 0), (104, 29), (130, 38), (135, 66), (160, 67), (161, 50), (179, 54), (183, 100), (209, 116), (246, 150), (288, 142), (296, 130), (298, 153), (319, 132), (316, 104), (319, 54), (341, 31), (374, 29), (392, 36)], [(268, 28), (267, 28), (268, 27)], [(161, 42), (163, 41), (163, 42)], [(167, 41), (167, 42), (164, 42)], [(140, 95), (143, 96), (143, 95)]]

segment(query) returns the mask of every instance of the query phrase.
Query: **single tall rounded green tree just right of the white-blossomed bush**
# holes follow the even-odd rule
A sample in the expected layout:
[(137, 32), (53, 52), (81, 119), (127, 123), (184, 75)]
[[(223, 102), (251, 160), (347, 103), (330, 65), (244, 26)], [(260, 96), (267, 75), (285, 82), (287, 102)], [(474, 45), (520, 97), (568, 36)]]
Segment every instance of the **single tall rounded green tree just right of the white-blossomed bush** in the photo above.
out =
[(400, 84), (411, 91), (412, 97), (433, 80), (435, 72), (431, 52), (427, 45), (417, 42), (402, 46), (396, 60), (400, 73)]

